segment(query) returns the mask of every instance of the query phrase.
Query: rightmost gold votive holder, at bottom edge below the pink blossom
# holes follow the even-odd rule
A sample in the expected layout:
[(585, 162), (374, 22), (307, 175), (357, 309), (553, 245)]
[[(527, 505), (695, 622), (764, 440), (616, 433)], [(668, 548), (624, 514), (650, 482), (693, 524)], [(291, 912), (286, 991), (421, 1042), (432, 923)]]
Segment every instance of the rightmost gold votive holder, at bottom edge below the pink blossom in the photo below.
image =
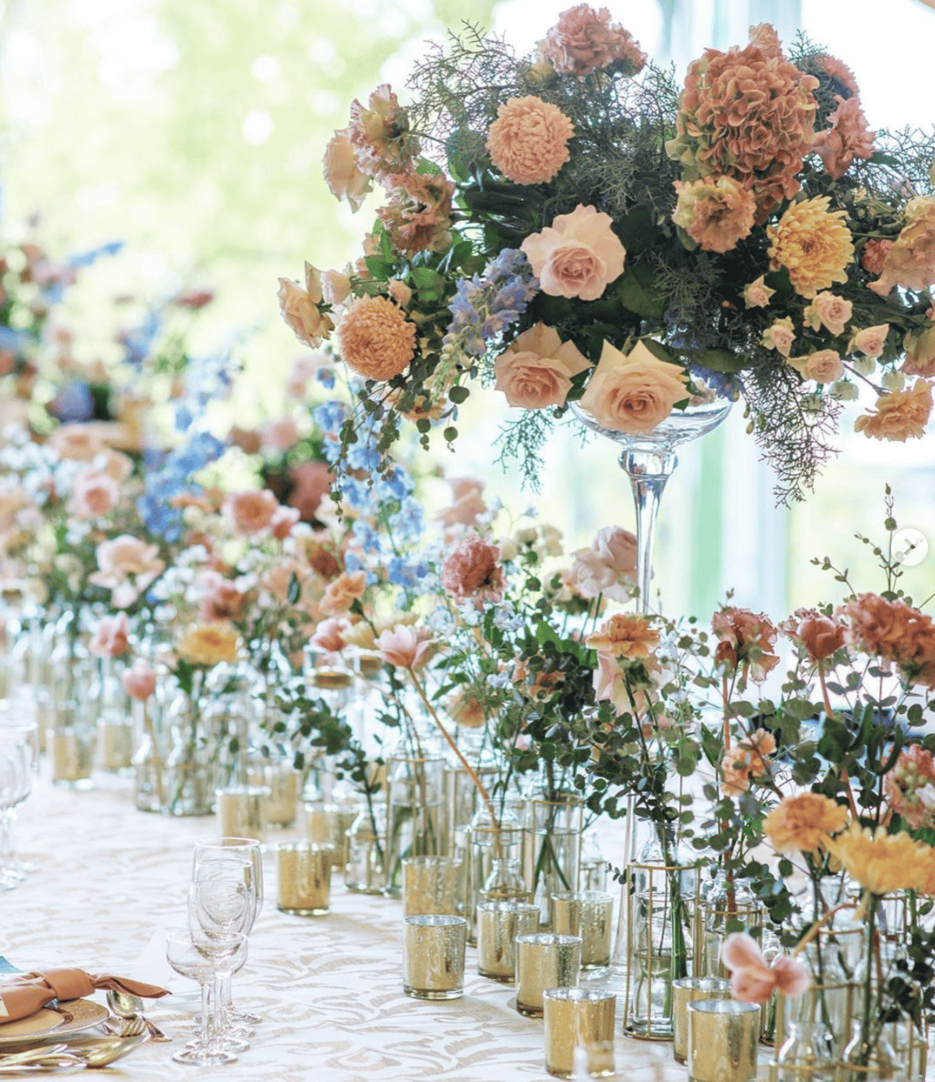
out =
[(754, 1082), (760, 1004), (736, 1000), (689, 1002), (690, 1082)]

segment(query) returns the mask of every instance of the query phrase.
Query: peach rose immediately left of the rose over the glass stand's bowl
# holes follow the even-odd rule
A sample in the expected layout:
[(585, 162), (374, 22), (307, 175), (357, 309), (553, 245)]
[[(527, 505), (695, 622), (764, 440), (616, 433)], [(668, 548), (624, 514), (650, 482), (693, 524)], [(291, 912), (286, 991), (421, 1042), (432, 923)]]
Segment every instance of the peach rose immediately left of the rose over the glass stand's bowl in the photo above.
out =
[(543, 322), (517, 335), (497, 358), (498, 391), (509, 406), (544, 409), (564, 406), (571, 390), (571, 377), (588, 368), (587, 359), (574, 342), (563, 342)]

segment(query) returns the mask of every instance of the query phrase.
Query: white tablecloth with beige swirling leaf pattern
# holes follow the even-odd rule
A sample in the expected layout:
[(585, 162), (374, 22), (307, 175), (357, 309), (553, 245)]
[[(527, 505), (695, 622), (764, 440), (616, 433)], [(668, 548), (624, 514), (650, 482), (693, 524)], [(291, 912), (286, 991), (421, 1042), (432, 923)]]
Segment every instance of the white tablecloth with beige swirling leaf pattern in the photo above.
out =
[[(0, 953), (21, 968), (71, 964), (186, 993), (149, 1012), (175, 1040), (144, 1045), (111, 1074), (133, 1082), (549, 1078), (541, 1021), (516, 1013), (512, 989), (477, 976), (473, 950), (463, 999), (411, 1000), (403, 994), (400, 903), (348, 894), (338, 882), (330, 915), (279, 913), (274, 852), (265, 857), (266, 906), (235, 979), (237, 1002), (264, 1018), (252, 1047), (226, 1067), (173, 1064), (196, 1003), (194, 986), (168, 968), (164, 933), (185, 922), (193, 843), (213, 833), (211, 819), (136, 812), (123, 779), (101, 779), (92, 792), (43, 781), (22, 807), (19, 849), (37, 869), (15, 890), (0, 893)], [(618, 1073), (627, 1082), (682, 1082), (685, 1071), (668, 1057), (662, 1069), (646, 1066), (661, 1055), (617, 1038)]]

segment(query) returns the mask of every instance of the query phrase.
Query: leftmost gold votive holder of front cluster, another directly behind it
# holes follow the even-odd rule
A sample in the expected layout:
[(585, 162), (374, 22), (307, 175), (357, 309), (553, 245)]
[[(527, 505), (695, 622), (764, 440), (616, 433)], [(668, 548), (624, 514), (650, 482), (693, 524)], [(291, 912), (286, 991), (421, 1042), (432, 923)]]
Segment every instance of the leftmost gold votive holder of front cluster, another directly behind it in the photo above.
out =
[(403, 918), (403, 991), (416, 1000), (464, 994), (467, 922), (449, 913)]

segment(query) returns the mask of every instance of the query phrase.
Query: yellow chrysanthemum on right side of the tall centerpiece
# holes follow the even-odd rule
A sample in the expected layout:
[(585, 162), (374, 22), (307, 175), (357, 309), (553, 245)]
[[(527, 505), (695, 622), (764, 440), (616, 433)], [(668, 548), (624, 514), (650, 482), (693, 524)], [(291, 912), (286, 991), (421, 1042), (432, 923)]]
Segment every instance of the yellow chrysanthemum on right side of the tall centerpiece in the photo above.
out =
[(844, 211), (829, 211), (829, 204), (828, 196), (792, 203), (777, 225), (766, 227), (769, 268), (786, 267), (792, 288), (809, 300), (835, 281), (846, 281), (845, 267), (854, 259)]

